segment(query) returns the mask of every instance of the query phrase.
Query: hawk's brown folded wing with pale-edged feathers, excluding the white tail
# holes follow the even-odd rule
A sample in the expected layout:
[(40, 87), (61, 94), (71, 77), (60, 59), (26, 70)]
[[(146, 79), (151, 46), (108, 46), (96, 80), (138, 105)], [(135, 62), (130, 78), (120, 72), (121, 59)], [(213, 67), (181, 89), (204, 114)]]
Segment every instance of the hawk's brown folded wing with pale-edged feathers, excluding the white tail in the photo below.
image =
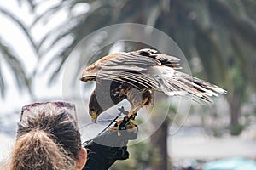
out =
[(148, 68), (166, 65), (178, 68), (179, 59), (165, 54), (154, 54), (152, 49), (141, 49), (129, 53), (109, 54), (90, 65), (81, 80), (94, 81), (97, 78), (142, 85), (145, 88), (160, 88), (159, 82), (148, 75)]

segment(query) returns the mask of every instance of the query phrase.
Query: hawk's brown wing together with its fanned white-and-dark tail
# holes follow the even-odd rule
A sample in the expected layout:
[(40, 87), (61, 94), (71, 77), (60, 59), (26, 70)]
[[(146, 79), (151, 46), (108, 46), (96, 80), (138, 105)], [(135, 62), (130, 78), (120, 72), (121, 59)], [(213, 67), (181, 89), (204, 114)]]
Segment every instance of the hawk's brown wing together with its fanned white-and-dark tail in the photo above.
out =
[(187, 95), (203, 103), (212, 103), (209, 98), (224, 94), (225, 90), (209, 82), (176, 71), (179, 60), (166, 54), (155, 54), (152, 49), (141, 49), (129, 53), (109, 54), (99, 59), (83, 72), (81, 80), (117, 81), (132, 86), (159, 89), (167, 95)]

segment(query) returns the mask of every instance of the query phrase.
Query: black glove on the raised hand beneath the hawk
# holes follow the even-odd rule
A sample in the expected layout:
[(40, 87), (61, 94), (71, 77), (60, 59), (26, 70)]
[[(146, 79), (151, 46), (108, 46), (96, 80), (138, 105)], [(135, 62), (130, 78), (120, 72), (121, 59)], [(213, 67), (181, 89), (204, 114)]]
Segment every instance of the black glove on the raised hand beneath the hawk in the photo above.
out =
[(110, 130), (84, 144), (88, 153), (85, 169), (106, 170), (117, 160), (129, 158), (127, 143), (137, 139), (137, 126), (129, 130)]

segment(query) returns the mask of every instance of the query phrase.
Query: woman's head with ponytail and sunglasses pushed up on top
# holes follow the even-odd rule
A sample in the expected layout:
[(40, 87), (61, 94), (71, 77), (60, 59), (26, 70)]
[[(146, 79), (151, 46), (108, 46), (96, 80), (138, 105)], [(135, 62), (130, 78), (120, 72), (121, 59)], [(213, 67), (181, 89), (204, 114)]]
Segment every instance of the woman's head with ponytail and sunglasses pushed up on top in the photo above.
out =
[(86, 156), (74, 105), (46, 102), (22, 108), (10, 169), (81, 169)]

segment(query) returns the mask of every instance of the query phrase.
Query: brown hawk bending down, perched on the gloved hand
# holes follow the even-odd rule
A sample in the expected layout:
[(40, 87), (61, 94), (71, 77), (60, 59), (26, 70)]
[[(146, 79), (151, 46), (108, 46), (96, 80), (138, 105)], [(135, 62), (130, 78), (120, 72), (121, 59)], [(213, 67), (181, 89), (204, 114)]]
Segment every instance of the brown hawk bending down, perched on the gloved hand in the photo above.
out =
[(96, 82), (89, 101), (91, 120), (96, 122), (103, 111), (124, 99), (131, 104), (127, 116), (134, 119), (143, 105), (150, 105), (153, 91), (188, 96), (202, 104), (211, 104), (210, 97), (226, 93), (216, 85), (177, 71), (179, 61), (176, 57), (144, 48), (108, 54), (88, 66), (80, 80)]

